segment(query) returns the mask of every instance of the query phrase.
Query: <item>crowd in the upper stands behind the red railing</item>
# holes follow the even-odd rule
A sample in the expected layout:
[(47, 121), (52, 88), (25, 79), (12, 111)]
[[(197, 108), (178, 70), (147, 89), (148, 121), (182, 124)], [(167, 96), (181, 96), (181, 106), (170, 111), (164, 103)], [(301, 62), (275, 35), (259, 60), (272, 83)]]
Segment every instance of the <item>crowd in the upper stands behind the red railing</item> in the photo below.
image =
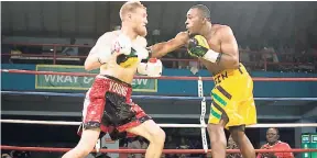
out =
[[(76, 44), (75, 38), (70, 38), (70, 45)], [(34, 59), (35, 57), (17, 58), (19, 55), (53, 55), (56, 52), (57, 56), (64, 56), (62, 59), (57, 59), (58, 65), (83, 65), (85, 56), (88, 55), (91, 44), (84, 44), (90, 47), (70, 47), (70, 46), (23, 46), (23, 45), (1, 45), (2, 63), (14, 64), (53, 64), (53, 57), (51, 59)], [(239, 45), (240, 61), (249, 70), (265, 70), (265, 71), (281, 71), (281, 72), (316, 72), (317, 69), (317, 47), (296, 49), (289, 45), (281, 46), (267, 46), (267, 45)], [(4, 55), (3, 55), (4, 54)], [(15, 58), (12, 57), (15, 56)], [(78, 57), (83, 56), (83, 57)], [(67, 57), (69, 60), (67, 60)], [(70, 60), (70, 58), (73, 58)], [(74, 60), (75, 58), (75, 60)], [(76, 60), (77, 58), (77, 60)], [(197, 61), (171, 61), (164, 60), (164, 58), (177, 58), (177, 59), (193, 59), (183, 47), (163, 57), (163, 65), (165, 68), (176, 69), (189, 69), (193, 74), (204, 69), (204, 66)]]

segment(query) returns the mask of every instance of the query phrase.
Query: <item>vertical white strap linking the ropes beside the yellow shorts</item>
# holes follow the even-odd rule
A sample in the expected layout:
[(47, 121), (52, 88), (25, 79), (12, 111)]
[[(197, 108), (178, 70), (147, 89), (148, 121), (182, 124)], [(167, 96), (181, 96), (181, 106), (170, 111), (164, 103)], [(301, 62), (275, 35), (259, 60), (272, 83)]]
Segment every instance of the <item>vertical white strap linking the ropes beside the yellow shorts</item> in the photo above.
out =
[(204, 88), (203, 88), (203, 80), (201, 77), (198, 79), (198, 97), (203, 98), (201, 100), (201, 114), (200, 114), (200, 127), (201, 131), (201, 142), (203, 142), (203, 148), (205, 153), (208, 153), (208, 143), (207, 143), (207, 136), (206, 136), (206, 123), (205, 123), (205, 115), (206, 115), (206, 98), (204, 97)]

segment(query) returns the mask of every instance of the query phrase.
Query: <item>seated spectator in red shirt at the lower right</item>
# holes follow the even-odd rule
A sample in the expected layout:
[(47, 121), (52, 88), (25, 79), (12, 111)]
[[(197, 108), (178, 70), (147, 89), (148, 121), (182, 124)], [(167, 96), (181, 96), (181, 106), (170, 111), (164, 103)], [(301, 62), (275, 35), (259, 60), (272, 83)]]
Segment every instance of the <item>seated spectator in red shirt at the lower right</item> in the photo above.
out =
[[(277, 128), (269, 128), (266, 131), (266, 144), (261, 149), (291, 149), (287, 143), (280, 140), (280, 133)], [(294, 158), (293, 153), (267, 153), (259, 154), (256, 158)]]

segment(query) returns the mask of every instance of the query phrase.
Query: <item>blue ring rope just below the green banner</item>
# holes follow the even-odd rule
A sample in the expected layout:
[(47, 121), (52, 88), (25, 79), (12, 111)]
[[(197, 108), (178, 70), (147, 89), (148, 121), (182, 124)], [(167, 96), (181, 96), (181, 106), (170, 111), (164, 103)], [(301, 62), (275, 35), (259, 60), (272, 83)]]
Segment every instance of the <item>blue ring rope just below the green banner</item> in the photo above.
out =
[[(63, 93), (63, 92), (30, 92), (30, 91), (1, 91), (1, 94), (29, 94), (29, 95), (48, 95), (48, 97), (85, 97), (84, 93)], [(132, 95), (132, 99), (157, 99), (157, 100), (199, 100), (200, 97), (165, 97), (165, 95)], [(205, 97), (210, 101), (211, 97)], [(317, 98), (254, 98), (261, 101), (317, 101)]]

